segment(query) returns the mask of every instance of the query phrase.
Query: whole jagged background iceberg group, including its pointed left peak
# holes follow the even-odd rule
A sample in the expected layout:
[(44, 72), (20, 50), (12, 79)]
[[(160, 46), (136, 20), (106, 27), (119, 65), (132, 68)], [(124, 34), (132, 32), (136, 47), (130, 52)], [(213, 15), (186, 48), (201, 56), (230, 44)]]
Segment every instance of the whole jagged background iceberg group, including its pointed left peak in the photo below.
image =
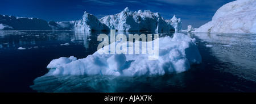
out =
[(107, 15), (98, 20), (89, 13), (84, 13), (82, 19), (76, 22), (75, 30), (104, 31), (114, 29), (117, 31), (180, 31), (181, 19), (176, 16), (171, 20), (164, 20), (159, 13), (149, 10), (131, 12), (128, 7), (121, 13)]

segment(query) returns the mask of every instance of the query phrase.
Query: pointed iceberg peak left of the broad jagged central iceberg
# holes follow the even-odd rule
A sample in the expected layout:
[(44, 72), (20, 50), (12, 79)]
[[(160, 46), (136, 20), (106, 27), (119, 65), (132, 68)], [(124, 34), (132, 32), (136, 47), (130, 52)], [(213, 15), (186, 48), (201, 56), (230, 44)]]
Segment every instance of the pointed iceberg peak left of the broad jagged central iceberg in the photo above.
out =
[(84, 12), (81, 20), (75, 23), (77, 31), (106, 31), (109, 27), (102, 24), (94, 15)]

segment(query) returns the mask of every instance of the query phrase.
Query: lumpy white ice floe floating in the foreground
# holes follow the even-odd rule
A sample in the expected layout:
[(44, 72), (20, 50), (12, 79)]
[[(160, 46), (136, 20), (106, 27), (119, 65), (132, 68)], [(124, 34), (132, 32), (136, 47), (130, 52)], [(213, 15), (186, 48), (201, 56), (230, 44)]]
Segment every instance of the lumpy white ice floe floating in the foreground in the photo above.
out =
[[(117, 45), (118, 42), (112, 44)], [(109, 45), (104, 48), (109, 48)], [(159, 38), (158, 60), (148, 60), (148, 54), (100, 54), (98, 51), (79, 60), (73, 56), (54, 59), (47, 66), (49, 72), (45, 76), (154, 76), (181, 73), (188, 70), (190, 65), (201, 63), (195, 39), (179, 33), (174, 34), (174, 38)]]

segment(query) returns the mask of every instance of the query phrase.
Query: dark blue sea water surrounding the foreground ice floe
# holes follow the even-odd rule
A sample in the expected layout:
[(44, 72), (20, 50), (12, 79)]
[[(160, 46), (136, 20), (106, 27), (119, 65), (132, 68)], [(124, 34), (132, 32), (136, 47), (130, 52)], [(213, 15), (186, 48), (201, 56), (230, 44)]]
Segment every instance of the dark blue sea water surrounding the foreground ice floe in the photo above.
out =
[[(174, 34), (116, 34), (142, 33)], [(52, 59), (82, 59), (93, 54), (101, 42), (97, 41), (99, 34), (102, 32), (0, 31), (0, 92), (256, 92), (255, 34), (188, 34), (196, 38), (203, 62), (184, 73), (41, 77)]]

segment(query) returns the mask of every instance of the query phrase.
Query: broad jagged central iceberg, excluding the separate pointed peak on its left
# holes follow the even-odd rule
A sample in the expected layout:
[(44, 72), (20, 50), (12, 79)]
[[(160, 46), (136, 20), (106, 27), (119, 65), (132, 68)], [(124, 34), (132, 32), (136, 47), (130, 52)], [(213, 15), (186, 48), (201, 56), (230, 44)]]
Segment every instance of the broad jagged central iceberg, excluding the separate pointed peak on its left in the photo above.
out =
[[(174, 18), (177, 19), (175, 16)], [(181, 20), (171, 19), (166, 22), (159, 13), (152, 13), (149, 10), (144, 10), (144, 12), (139, 10), (133, 13), (128, 7), (121, 13), (104, 16), (100, 21), (117, 31), (175, 31), (175, 28), (178, 31), (181, 29), (175, 26), (181, 23)]]

